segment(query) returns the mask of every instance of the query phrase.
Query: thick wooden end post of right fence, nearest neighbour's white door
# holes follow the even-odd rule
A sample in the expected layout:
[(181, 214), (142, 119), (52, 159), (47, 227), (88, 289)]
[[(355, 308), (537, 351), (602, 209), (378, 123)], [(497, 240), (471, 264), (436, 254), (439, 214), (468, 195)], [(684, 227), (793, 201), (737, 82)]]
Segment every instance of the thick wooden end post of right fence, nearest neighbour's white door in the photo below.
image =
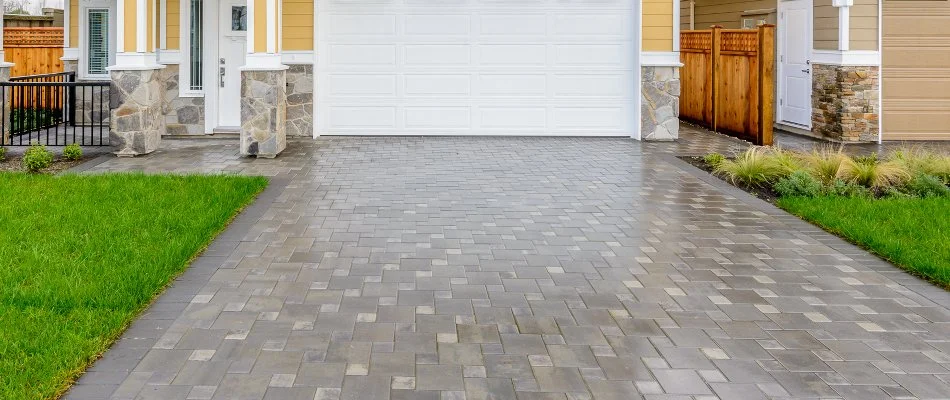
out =
[(759, 26), (759, 143), (772, 144), (775, 122), (775, 25)]

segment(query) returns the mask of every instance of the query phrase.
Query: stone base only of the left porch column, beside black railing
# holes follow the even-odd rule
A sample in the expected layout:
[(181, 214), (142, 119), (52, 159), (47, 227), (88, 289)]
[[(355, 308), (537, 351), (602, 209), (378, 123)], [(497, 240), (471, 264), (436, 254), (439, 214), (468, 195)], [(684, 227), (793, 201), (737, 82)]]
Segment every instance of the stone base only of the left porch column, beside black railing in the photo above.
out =
[(158, 149), (165, 131), (160, 69), (113, 70), (110, 100), (114, 101), (109, 137), (120, 157)]

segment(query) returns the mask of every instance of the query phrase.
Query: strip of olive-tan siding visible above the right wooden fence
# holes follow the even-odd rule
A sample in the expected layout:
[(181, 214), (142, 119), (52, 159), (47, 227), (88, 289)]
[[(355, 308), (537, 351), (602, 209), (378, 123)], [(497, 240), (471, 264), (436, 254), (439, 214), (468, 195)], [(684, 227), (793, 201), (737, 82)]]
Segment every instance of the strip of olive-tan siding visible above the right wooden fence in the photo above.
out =
[[(768, 14), (768, 21), (774, 23), (775, 7), (775, 0), (697, 0), (694, 27), (709, 29), (712, 25), (720, 25), (726, 29), (739, 29), (742, 28), (743, 15), (750, 14)], [(680, 3), (680, 29), (689, 29), (689, 0)]]

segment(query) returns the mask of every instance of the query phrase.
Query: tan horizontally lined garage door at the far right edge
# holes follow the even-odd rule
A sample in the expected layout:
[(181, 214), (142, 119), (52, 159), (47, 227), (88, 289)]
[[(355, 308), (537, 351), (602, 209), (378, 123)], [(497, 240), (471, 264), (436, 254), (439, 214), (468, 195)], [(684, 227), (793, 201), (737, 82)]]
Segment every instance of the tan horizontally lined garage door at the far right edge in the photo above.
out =
[(950, 140), (950, 2), (885, 1), (885, 140)]

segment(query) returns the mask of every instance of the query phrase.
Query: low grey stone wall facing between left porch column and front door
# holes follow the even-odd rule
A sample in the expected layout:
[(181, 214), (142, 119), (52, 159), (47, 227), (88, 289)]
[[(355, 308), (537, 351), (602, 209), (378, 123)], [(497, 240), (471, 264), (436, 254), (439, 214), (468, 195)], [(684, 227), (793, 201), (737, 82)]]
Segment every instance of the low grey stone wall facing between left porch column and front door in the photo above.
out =
[(161, 70), (165, 91), (162, 112), (165, 114), (166, 135), (205, 134), (204, 97), (181, 97), (180, 75), (177, 64), (166, 65)]

